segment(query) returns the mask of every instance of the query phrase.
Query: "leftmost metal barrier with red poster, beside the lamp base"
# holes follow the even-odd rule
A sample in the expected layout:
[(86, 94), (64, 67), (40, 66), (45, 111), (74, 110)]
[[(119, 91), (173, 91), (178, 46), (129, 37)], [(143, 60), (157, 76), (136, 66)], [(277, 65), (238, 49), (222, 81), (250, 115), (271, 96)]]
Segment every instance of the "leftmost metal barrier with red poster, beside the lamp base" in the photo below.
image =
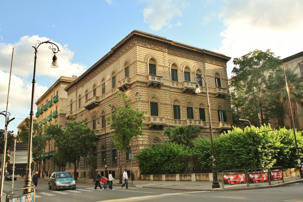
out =
[(248, 186), (246, 171), (245, 170), (222, 171), (222, 188), (224, 188), (224, 184), (225, 185), (246, 184), (246, 186)]

